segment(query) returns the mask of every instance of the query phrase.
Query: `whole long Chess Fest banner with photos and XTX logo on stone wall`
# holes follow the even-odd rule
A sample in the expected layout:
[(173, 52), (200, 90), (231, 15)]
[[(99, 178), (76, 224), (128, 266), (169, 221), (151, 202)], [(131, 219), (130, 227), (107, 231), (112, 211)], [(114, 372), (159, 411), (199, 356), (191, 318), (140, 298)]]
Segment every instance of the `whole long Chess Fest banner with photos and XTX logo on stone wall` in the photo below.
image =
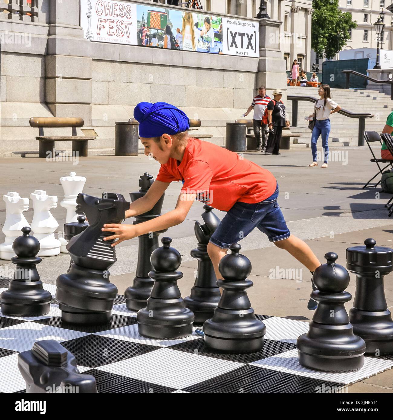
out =
[(258, 21), (116, 0), (81, 0), (81, 21), (91, 41), (259, 57)]

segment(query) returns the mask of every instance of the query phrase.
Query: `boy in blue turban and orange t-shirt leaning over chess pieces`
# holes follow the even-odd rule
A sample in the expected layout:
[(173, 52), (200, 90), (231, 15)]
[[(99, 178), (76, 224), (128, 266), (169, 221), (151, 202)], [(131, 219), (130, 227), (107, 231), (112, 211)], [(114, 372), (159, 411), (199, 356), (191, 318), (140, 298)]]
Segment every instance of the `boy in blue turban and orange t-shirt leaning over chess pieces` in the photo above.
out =
[[(197, 199), (227, 212), (207, 247), (217, 278), (222, 278), (218, 265), (229, 246), (254, 228), (265, 233), (278, 248), (286, 249), (311, 273), (319, 267), (309, 246), (290, 234), (277, 203), (279, 188), (272, 173), (241, 159), (237, 153), (189, 138), (190, 121), (173, 105), (140, 102), (134, 117), (140, 123), (145, 155), (161, 163), (161, 168), (145, 196), (131, 203), (126, 218), (150, 210), (171, 181), (181, 181), (183, 186), (174, 210), (137, 225), (106, 224), (103, 231), (114, 235), (104, 240), (117, 239), (112, 245), (115, 246), (126, 239), (176, 226), (185, 220)], [(310, 299), (308, 307), (315, 309), (317, 302)]]

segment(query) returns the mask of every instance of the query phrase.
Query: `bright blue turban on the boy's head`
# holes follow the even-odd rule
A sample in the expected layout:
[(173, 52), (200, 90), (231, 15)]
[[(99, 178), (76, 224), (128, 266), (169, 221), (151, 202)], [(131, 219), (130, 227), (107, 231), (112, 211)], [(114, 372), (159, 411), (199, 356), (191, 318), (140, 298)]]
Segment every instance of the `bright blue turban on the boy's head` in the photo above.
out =
[(177, 134), (190, 128), (190, 120), (179, 108), (166, 102), (139, 102), (134, 109), (141, 137), (160, 137)]

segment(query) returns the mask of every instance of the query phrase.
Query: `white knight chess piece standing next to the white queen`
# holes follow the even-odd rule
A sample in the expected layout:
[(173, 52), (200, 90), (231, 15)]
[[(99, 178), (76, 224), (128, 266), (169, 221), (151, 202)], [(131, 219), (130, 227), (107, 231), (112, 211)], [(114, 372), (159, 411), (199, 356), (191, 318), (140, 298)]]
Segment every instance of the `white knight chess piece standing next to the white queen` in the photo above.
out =
[(45, 191), (36, 189), (30, 198), (33, 202), (34, 215), (32, 220), (32, 231), (34, 236), (40, 241), (40, 252), (38, 257), (50, 257), (60, 254), (60, 241), (55, 238), (53, 233), (59, 226), (51, 209), (57, 207), (57, 197), (47, 195)]

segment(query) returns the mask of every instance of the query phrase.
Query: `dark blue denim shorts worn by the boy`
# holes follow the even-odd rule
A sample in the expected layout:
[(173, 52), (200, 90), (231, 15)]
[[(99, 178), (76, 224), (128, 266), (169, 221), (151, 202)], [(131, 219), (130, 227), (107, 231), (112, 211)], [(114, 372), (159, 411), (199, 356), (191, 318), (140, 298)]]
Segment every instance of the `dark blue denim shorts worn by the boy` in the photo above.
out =
[(245, 238), (255, 227), (267, 235), (270, 242), (290, 236), (284, 215), (277, 203), (279, 188), (264, 201), (250, 204), (237, 201), (221, 220), (210, 242), (220, 248), (229, 248)]

